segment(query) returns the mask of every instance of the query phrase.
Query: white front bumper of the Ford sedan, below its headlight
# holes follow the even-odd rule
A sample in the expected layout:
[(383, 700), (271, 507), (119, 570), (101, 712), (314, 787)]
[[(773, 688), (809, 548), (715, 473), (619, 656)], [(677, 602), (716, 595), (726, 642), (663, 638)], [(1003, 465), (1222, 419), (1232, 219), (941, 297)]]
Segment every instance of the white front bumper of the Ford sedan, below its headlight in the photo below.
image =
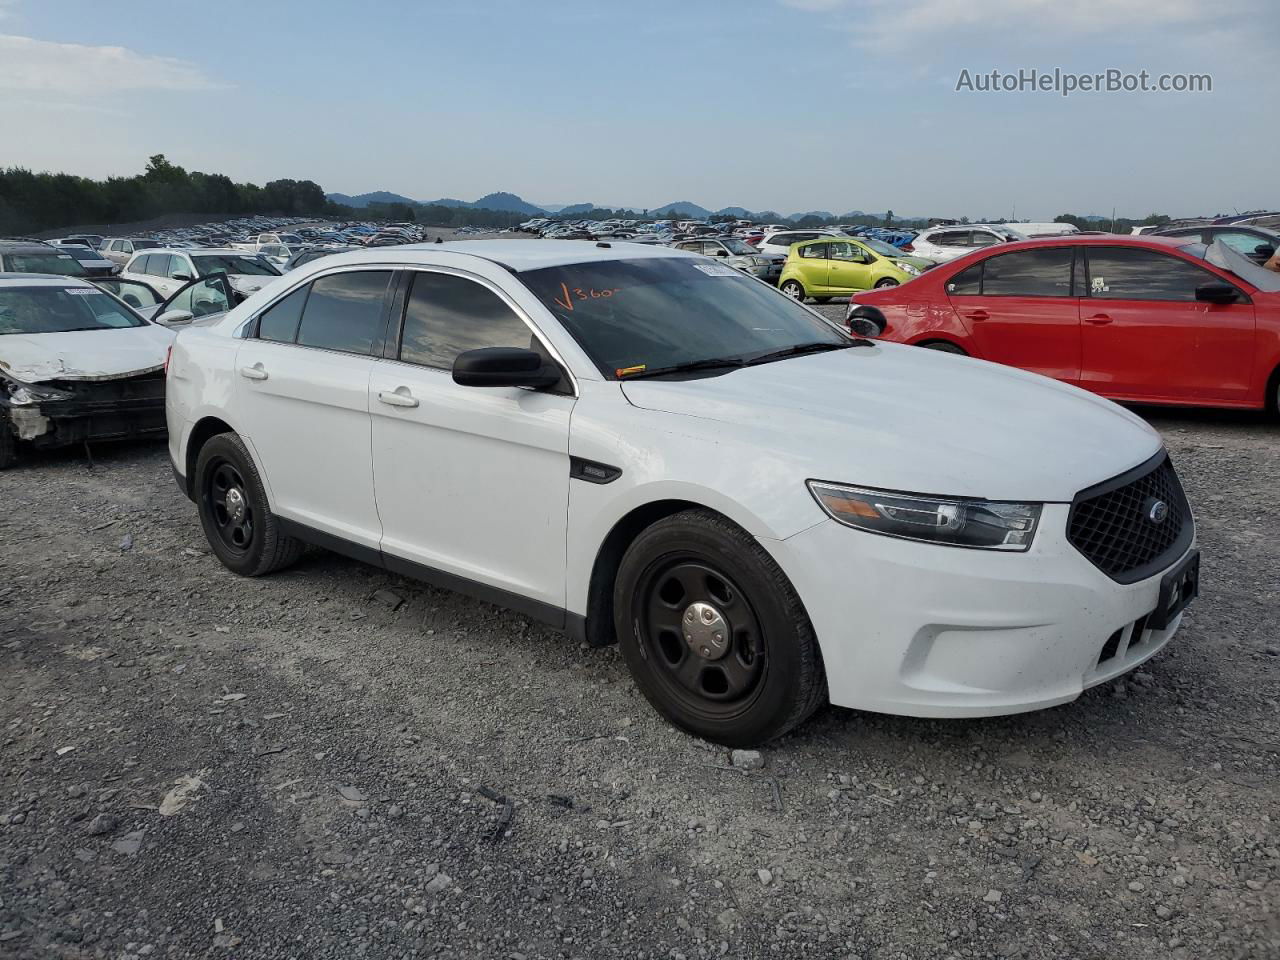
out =
[(895, 540), (829, 520), (762, 545), (805, 604), (832, 703), (910, 717), (1021, 713), (1126, 673), (1181, 622), (1147, 628), (1165, 571), (1115, 582), (1068, 541), (1068, 509), (1046, 504), (1027, 553)]

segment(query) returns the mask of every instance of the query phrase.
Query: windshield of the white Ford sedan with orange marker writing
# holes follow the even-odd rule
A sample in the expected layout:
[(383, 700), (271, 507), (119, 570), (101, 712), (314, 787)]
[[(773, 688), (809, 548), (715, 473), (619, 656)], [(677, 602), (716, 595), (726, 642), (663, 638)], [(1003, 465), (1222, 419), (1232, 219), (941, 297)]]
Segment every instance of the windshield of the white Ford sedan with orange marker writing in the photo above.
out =
[(726, 264), (662, 257), (520, 274), (607, 378), (849, 338)]

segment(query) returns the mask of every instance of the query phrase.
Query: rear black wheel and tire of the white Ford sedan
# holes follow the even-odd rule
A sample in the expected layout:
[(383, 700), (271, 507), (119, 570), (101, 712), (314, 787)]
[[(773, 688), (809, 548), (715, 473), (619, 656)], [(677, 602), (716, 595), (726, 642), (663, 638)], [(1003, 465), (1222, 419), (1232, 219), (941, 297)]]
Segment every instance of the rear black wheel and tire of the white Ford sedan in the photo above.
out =
[(228, 570), (247, 577), (274, 573), (306, 549), (280, 532), (262, 477), (236, 434), (219, 434), (200, 449), (195, 490), (205, 538)]

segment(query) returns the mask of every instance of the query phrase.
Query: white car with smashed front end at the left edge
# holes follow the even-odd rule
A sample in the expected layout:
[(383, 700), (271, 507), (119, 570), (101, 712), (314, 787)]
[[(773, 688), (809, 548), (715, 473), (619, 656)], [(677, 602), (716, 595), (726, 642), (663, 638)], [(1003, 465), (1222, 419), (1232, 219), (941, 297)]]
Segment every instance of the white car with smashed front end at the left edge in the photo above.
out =
[(0, 470), (20, 444), (164, 436), (172, 342), (88, 280), (0, 274)]

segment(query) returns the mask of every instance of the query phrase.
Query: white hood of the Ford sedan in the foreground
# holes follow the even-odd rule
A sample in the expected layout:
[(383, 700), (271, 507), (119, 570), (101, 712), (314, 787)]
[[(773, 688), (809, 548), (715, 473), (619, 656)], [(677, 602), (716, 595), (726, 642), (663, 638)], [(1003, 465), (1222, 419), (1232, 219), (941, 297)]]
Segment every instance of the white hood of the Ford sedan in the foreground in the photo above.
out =
[(1075, 387), (893, 343), (622, 392), (705, 422), (712, 442), (716, 424), (751, 433), (805, 479), (911, 493), (1069, 502), (1161, 447), (1139, 417)]

